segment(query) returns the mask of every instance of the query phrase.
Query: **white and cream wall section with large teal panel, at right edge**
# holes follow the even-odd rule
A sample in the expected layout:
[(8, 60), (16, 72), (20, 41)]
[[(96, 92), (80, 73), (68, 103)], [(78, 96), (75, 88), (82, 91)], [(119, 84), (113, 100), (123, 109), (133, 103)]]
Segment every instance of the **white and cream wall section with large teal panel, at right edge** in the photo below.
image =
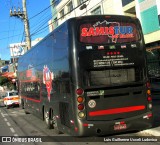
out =
[(160, 0), (136, 0), (136, 12), (142, 24), (146, 43), (160, 40)]

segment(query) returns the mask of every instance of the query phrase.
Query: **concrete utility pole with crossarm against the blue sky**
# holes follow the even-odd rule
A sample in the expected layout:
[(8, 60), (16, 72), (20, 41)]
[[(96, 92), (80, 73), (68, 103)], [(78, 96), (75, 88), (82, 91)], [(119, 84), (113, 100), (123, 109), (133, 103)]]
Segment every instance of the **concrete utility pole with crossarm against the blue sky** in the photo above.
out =
[(26, 35), (26, 44), (27, 44), (27, 50), (31, 48), (31, 38), (30, 38), (30, 31), (29, 31), (29, 22), (28, 22), (28, 15), (27, 15), (27, 8), (26, 8), (26, 0), (22, 0), (22, 6), (23, 11), (21, 11), (20, 8), (18, 8), (18, 11), (16, 8), (14, 10), (10, 10), (10, 16), (18, 17), (23, 20), (24, 22), (24, 29), (25, 29), (25, 35)]

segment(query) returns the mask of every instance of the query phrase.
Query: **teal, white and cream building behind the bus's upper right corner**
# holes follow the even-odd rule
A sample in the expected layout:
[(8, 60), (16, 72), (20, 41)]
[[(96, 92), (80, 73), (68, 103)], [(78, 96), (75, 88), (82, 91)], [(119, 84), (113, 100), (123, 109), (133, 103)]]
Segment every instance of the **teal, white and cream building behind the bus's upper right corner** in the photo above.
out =
[(139, 18), (147, 49), (160, 48), (160, 0), (122, 0), (124, 14)]

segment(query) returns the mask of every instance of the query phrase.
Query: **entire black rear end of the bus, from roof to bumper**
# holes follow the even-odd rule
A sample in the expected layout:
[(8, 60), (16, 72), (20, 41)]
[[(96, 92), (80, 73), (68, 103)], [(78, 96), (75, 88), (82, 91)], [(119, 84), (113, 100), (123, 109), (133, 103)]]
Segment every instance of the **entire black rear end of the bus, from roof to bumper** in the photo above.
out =
[(78, 18), (73, 28), (75, 129), (104, 135), (150, 128), (152, 97), (139, 21), (90, 16)]

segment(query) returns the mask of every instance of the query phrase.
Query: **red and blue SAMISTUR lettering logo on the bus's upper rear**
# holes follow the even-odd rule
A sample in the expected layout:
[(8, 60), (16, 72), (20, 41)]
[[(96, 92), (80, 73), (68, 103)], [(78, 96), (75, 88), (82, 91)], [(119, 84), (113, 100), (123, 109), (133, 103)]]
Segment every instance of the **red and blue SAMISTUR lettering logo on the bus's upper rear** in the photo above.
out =
[(133, 27), (132, 26), (121, 26), (119, 22), (96, 22), (93, 27), (82, 28), (82, 37), (94, 37), (106, 35), (112, 39), (113, 43), (117, 42), (118, 38), (133, 38)]

